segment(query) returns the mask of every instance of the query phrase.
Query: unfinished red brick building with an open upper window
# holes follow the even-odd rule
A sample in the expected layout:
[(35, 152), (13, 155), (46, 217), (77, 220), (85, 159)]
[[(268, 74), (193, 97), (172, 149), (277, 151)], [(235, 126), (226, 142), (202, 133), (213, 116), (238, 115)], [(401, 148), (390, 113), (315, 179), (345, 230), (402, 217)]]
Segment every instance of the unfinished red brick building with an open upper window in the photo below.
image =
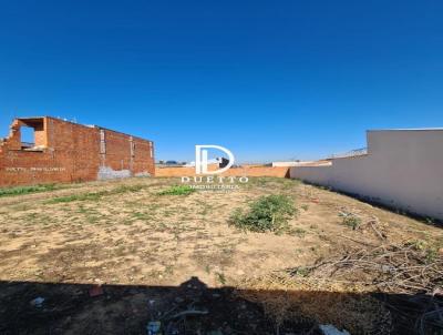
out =
[[(33, 143), (22, 129), (33, 130)], [(16, 119), (0, 139), (0, 186), (154, 175), (154, 143), (50, 116)]]

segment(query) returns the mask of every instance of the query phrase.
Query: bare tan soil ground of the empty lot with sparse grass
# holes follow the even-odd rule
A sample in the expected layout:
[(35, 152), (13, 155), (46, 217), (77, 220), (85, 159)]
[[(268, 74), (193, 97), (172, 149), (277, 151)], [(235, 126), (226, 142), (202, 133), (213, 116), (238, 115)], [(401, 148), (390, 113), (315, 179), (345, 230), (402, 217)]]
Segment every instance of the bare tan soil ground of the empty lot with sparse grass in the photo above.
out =
[[(312, 324), (334, 323), (352, 334), (383, 324), (379, 333), (388, 334), (395, 318), (374, 303), (380, 290), (368, 274), (350, 275), (368, 285), (316, 280), (308, 287), (291, 282), (293, 273), (305, 278), (321, 260), (391, 245), (441, 257), (443, 231), (431, 222), (298, 181), (255, 177), (229, 193), (158, 194), (178, 183), (130, 179), (0, 197), (0, 334), (146, 334), (150, 319), (165, 323), (186, 308), (205, 313), (190, 316), (185, 331), (169, 319), (176, 329), (164, 332), (316, 334)], [(245, 233), (228, 224), (234, 209), (266, 194), (293, 199), (299, 214), (288, 232)], [(361, 224), (346, 224), (348, 214)], [(95, 285), (104, 292), (91, 297)], [(411, 294), (395, 287), (385, 293)], [(298, 308), (289, 291), (299, 292)], [(45, 302), (35, 307), (38, 296)], [(312, 311), (319, 304), (341, 311)], [(340, 317), (346, 308), (357, 314)]]

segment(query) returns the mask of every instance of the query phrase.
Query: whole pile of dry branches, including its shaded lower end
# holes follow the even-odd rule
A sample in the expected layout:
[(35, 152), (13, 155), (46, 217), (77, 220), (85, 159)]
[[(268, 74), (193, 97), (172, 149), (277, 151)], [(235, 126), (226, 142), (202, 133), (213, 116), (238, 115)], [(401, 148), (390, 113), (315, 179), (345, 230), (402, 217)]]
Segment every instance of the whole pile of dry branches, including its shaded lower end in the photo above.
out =
[(333, 283), (385, 294), (385, 306), (405, 328), (421, 335), (443, 332), (443, 255), (418, 243), (350, 250), (288, 273), (317, 285)]

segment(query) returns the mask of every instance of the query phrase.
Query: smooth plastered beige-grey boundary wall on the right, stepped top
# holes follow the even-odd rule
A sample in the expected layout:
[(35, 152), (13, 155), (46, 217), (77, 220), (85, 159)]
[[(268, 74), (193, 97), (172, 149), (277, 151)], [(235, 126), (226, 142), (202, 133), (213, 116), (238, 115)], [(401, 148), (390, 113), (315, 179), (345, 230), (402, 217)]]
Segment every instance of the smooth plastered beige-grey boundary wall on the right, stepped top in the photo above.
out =
[(443, 129), (368, 132), (368, 155), (297, 166), (290, 177), (443, 220)]

